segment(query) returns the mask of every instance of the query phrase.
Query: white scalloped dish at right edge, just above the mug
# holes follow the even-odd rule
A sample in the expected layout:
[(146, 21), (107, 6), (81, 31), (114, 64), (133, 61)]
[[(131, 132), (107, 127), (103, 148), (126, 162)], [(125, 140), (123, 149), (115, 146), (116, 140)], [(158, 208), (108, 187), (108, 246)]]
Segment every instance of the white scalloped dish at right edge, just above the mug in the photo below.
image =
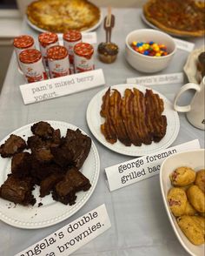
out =
[(188, 77), (188, 82), (194, 83), (194, 84), (200, 84), (200, 78), (199, 73), (197, 72), (197, 61), (198, 61), (198, 56), (200, 53), (205, 51), (205, 45), (202, 45), (202, 47), (195, 49), (188, 55), (188, 59), (186, 64), (183, 67), (183, 71)]

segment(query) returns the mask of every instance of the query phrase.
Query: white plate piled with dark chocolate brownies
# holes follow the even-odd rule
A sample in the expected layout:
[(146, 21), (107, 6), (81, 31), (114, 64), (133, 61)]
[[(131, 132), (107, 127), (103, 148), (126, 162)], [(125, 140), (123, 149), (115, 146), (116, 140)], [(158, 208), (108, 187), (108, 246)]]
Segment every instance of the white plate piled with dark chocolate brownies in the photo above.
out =
[(68, 219), (88, 201), (100, 160), (91, 138), (75, 125), (40, 121), (0, 142), (0, 219), (42, 228)]

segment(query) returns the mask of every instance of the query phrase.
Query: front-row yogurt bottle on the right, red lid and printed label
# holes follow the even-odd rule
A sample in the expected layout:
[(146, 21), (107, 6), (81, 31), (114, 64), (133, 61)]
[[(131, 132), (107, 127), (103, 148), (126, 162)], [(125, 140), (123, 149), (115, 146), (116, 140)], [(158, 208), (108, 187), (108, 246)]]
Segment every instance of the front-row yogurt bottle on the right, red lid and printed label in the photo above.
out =
[(94, 48), (88, 43), (78, 43), (74, 46), (74, 65), (75, 72), (95, 70), (94, 65)]

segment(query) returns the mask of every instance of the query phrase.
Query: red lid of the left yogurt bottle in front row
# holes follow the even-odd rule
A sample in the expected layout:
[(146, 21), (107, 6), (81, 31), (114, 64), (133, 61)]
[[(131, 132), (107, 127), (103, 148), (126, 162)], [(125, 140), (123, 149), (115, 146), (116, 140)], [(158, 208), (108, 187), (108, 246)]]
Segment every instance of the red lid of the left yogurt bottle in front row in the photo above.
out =
[(41, 59), (41, 51), (36, 49), (27, 49), (19, 54), (19, 59), (24, 64), (33, 64)]

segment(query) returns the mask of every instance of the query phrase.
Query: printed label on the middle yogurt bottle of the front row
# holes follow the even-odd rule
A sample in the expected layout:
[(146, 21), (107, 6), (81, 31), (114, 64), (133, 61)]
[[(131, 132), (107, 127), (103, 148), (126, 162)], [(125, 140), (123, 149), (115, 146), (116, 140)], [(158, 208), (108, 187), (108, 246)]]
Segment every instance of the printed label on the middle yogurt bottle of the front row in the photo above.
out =
[(60, 60), (49, 59), (48, 61), (51, 78), (69, 75), (69, 59), (67, 56)]

